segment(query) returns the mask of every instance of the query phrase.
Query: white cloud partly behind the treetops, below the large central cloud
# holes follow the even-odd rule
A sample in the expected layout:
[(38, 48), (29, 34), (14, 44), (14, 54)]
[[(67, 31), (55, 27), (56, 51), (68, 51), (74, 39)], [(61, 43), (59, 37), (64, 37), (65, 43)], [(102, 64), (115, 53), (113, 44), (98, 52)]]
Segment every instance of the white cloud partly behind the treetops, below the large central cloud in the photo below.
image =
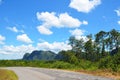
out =
[(72, 36), (75, 36), (76, 39), (83, 39), (85, 42), (88, 40), (86, 36), (84, 36), (85, 31), (81, 29), (74, 29), (69, 31)]

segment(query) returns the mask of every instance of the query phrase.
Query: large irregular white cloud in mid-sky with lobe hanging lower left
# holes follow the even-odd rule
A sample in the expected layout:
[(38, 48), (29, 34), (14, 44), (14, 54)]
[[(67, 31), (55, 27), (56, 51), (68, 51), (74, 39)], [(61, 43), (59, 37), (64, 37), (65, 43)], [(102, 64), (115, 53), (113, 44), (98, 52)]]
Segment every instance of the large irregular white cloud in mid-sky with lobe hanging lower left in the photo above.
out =
[(57, 15), (55, 12), (37, 12), (37, 19), (42, 21), (42, 25), (37, 26), (38, 31), (41, 34), (50, 35), (53, 32), (50, 30), (52, 27), (56, 28), (76, 28), (80, 25), (87, 25), (87, 21), (79, 21), (77, 18), (73, 18), (68, 13), (62, 13)]

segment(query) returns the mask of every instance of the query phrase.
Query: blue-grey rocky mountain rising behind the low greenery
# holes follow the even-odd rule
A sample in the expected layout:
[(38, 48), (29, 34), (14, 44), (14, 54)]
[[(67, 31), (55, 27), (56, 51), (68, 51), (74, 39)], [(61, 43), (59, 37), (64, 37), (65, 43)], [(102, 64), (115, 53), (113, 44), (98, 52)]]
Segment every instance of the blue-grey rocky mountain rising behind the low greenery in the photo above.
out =
[(23, 60), (54, 60), (56, 54), (52, 51), (33, 51), (32, 53), (26, 53), (23, 56)]

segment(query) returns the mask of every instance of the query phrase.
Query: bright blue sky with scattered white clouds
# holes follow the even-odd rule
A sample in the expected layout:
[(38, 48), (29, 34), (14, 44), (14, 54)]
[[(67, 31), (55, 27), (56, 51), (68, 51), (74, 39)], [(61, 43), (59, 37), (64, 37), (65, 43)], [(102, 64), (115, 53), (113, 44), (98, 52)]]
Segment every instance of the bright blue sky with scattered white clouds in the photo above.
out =
[(0, 0), (0, 59), (70, 50), (70, 36), (111, 29), (120, 30), (120, 0)]

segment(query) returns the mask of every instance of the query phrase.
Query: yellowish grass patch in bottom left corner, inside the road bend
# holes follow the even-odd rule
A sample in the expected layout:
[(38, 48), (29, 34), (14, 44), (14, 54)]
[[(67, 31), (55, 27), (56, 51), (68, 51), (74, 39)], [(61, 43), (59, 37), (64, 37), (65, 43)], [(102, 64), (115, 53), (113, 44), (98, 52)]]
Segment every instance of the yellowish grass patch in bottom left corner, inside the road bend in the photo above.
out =
[(0, 80), (18, 80), (18, 77), (11, 70), (0, 69)]

